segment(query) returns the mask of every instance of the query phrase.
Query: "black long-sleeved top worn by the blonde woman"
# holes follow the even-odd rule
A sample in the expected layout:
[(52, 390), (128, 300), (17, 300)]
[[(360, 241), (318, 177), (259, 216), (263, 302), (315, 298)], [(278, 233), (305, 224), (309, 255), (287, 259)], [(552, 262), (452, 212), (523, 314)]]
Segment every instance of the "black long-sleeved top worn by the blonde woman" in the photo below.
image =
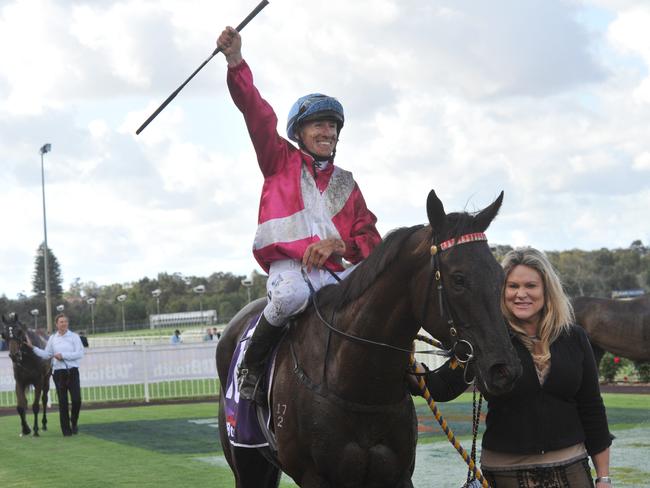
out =
[[(482, 446), (497, 452), (542, 454), (585, 443), (590, 455), (612, 443), (598, 368), (585, 331), (571, 326), (551, 344), (551, 369), (540, 385), (533, 358), (513, 337), (523, 372), (509, 393), (485, 395), (488, 402)], [(449, 363), (427, 374), (434, 400), (456, 398), (466, 389), (462, 369)]]

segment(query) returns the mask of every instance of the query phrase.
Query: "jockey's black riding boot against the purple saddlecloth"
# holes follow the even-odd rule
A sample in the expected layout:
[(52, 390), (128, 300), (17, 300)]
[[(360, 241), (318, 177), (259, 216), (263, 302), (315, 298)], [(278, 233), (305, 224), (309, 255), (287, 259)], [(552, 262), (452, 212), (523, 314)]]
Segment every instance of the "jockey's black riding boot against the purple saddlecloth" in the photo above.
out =
[(249, 339), (244, 359), (237, 369), (239, 396), (241, 398), (253, 400), (260, 405), (266, 403), (266, 396), (258, 383), (264, 373), (267, 357), (273, 346), (277, 344), (283, 331), (283, 326), (271, 325), (264, 315), (260, 316), (257, 327), (255, 327), (255, 331)]

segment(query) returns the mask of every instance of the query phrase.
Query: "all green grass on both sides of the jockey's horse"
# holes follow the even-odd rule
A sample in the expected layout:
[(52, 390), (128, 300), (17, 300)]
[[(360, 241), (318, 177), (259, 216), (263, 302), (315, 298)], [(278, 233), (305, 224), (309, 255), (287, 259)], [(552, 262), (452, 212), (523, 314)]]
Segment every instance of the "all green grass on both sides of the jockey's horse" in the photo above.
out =
[[(650, 424), (650, 395), (606, 394), (604, 399), (617, 442), (625, 440), (625, 429)], [(430, 425), (430, 430), (421, 434), (421, 443), (445, 441), (425, 402), (418, 399), (416, 407), (421, 423)], [(471, 394), (439, 407), (463, 445), (469, 447)], [(230, 488), (234, 481), (222, 457), (214, 427), (216, 415), (216, 401), (85, 409), (79, 435), (70, 438), (61, 436), (56, 409), (48, 416), (50, 430), (39, 438), (19, 437), (17, 415), (6, 415), (0, 417), (0, 486)], [(638, 452), (647, 452), (646, 441), (635, 442), (643, 443)], [(448, 447), (441, 447), (441, 452), (457, 463), (457, 455)], [(635, 483), (646, 479), (643, 469), (640, 465), (638, 472), (613, 466), (617, 479), (627, 481), (621, 486), (641, 486)], [(281, 486), (295, 487), (286, 477)]]

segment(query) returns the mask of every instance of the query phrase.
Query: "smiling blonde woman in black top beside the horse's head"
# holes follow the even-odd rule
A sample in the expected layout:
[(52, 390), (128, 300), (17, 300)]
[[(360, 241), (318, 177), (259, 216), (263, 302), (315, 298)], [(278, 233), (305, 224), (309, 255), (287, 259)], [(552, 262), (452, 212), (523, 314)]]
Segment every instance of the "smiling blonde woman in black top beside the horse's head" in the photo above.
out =
[[(493, 488), (609, 488), (612, 436), (598, 369), (584, 330), (544, 253), (523, 248), (503, 260), (501, 308), (523, 367), (512, 391), (488, 402), (481, 468)], [(460, 368), (427, 373), (434, 399), (465, 388)]]

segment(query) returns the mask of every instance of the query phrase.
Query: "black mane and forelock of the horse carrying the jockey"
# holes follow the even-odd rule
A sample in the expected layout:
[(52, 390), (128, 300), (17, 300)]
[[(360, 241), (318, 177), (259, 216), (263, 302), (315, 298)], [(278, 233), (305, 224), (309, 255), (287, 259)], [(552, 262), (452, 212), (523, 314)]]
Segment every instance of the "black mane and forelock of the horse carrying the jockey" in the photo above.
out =
[[(475, 214), (467, 212), (454, 212), (447, 215), (440, 240), (457, 238), (474, 229)], [(381, 275), (403, 250), (406, 240), (415, 232), (423, 229), (423, 225), (400, 227), (391, 231), (384, 240), (370, 253), (350, 275), (338, 286), (326, 286), (317, 293), (320, 305), (337, 304), (343, 306), (357, 300), (370, 285)], [(427, 234), (422, 244), (414, 249), (414, 253), (428, 253), (431, 239), (431, 227), (427, 227)]]

